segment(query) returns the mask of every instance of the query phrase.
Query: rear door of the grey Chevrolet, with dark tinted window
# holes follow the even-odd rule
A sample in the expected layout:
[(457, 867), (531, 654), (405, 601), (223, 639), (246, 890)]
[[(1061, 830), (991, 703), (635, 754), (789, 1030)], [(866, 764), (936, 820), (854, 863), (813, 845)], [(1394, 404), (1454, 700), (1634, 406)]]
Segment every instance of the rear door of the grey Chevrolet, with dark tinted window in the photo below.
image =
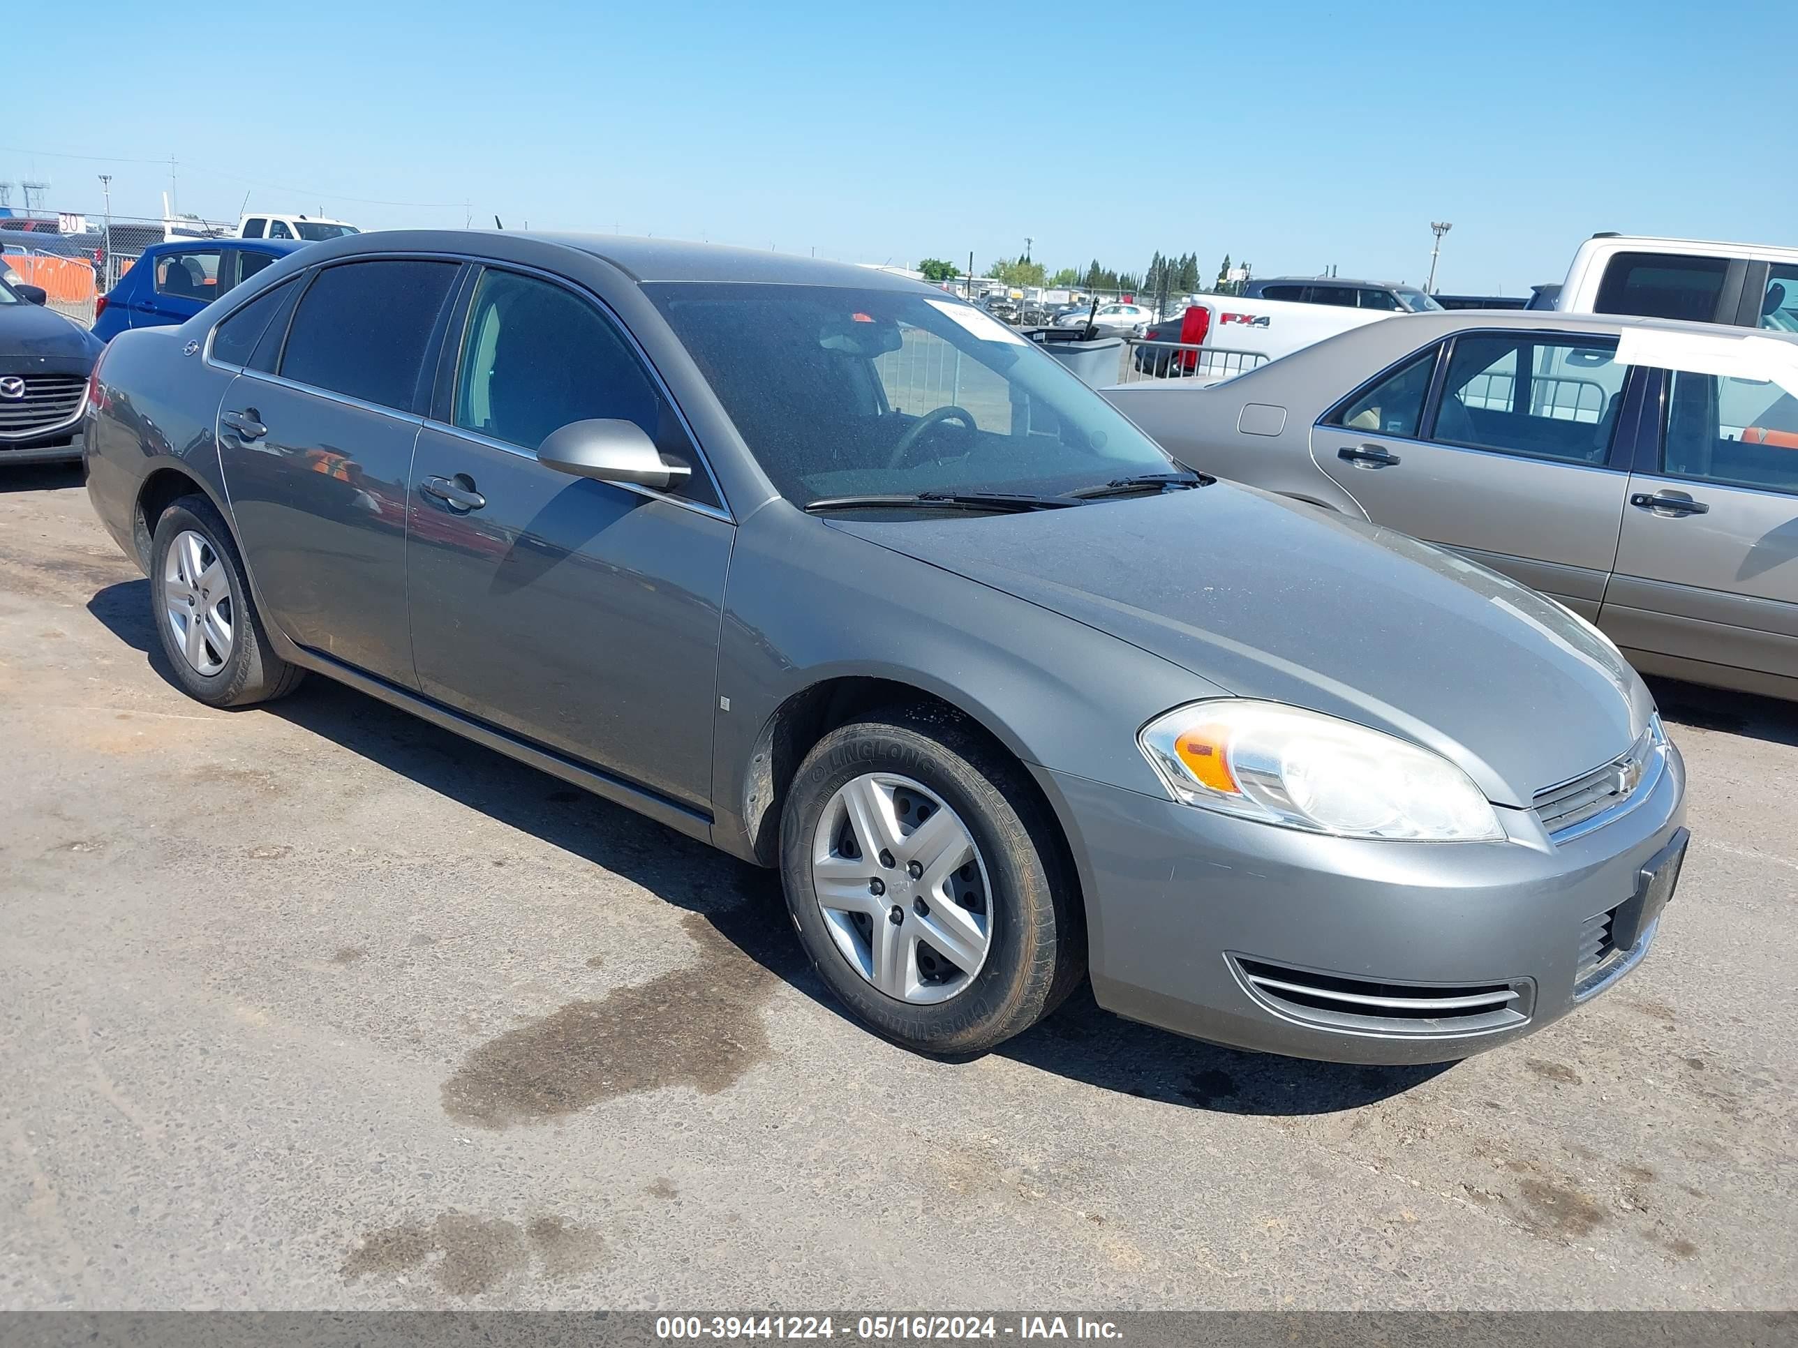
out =
[(406, 485), (435, 370), (426, 356), (458, 275), (458, 262), (426, 259), (316, 268), (219, 408), (219, 462), (266, 616), (408, 688)]

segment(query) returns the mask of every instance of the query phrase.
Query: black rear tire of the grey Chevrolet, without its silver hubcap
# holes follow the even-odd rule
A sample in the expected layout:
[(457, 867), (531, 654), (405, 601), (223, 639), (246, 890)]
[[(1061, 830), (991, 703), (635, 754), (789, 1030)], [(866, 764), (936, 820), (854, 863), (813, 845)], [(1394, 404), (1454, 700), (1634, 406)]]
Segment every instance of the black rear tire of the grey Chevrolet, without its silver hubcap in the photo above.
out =
[[(207, 541), (223, 564), (230, 584), (232, 649), (216, 674), (194, 669), (176, 643), (165, 615), (164, 575), (169, 548), (185, 532), (200, 534)], [(149, 548), (149, 618), (156, 625), (162, 652), (174, 670), (174, 681), (182, 692), (207, 706), (252, 706), (286, 697), (306, 678), (304, 669), (289, 665), (270, 645), (263, 615), (255, 611), (255, 600), (250, 599), (250, 581), (243, 570), (243, 557), (237, 554), (237, 541), (205, 496), (182, 496), (156, 519)]]

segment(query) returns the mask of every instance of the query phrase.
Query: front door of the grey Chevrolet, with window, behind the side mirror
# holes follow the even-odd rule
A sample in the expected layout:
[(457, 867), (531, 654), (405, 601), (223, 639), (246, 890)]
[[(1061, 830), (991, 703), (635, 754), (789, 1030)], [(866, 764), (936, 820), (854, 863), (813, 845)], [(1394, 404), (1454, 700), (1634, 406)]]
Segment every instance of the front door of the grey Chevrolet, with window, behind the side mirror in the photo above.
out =
[[(592, 297), (487, 268), (448, 343), (410, 498), (423, 692), (708, 809), (717, 627), (735, 527), (672, 401)], [(680, 491), (570, 476), (536, 446), (622, 419)]]

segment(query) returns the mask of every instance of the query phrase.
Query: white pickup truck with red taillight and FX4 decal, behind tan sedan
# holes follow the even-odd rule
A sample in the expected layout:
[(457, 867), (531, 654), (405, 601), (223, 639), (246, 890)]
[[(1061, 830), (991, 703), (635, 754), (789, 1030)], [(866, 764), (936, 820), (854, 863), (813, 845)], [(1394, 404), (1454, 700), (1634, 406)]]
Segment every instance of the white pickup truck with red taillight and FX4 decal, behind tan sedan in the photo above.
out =
[[(1553, 307), (1794, 333), (1798, 248), (1595, 234), (1573, 253)], [(1135, 367), (1215, 379), (1393, 316), (1343, 304), (1203, 295), (1185, 315), (1145, 333), (1151, 345), (1136, 349)]]

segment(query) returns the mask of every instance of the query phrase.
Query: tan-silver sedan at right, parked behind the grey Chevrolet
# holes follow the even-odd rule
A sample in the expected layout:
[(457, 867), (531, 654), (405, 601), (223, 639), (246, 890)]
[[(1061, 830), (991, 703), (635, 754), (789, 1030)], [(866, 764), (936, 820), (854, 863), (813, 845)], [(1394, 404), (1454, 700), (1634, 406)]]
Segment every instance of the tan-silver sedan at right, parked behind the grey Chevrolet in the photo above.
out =
[(1798, 697), (1794, 390), (1791, 334), (1444, 313), (1106, 397), (1196, 469), (1523, 581), (1642, 670)]

